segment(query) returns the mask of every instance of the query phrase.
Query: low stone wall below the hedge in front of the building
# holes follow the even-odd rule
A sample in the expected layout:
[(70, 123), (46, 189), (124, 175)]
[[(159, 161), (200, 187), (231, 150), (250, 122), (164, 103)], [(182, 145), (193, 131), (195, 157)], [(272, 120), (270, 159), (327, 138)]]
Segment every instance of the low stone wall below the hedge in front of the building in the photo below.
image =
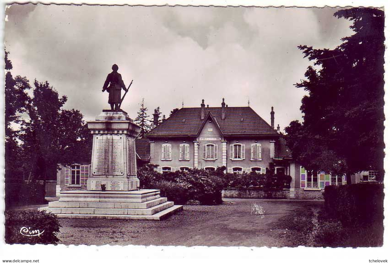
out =
[(253, 188), (225, 188), (222, 190), (222, 198), (254, 198), (254, 199), (303, 199), (323, 200), (324, 189), (283, 189), (266, 193), (261, 189)]

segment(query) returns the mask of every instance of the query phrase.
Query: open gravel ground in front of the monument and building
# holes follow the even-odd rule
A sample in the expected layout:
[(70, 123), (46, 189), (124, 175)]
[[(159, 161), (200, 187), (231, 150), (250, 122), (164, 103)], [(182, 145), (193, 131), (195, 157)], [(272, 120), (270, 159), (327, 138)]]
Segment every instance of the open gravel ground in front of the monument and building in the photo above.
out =
[[(253, 204), (265, 209), (264, 217), (250, 214)], [(58, 237), (67, 245), (295, 247), (312, 245), (311, 215), (321, 207), (316, 200), (224, 199), (184, 206), (164, 221), (60, 219)]]

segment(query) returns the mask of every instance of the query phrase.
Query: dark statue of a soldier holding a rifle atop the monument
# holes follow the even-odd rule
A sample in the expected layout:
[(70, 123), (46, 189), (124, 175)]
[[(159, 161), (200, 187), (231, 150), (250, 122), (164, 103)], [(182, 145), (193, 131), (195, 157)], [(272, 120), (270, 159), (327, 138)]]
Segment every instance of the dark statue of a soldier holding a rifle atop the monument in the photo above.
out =
[(108, 96), (108, 103), (110, 103), (111, 110), (119, 110), (121, 104), (121, 90), (127, 91), (123, 83), (121, 74), (118, 73), (118, 65), (112, 65), (112, 72), (107, 75), (107, 79), (103, 85), (103, 92), (110, 93)]

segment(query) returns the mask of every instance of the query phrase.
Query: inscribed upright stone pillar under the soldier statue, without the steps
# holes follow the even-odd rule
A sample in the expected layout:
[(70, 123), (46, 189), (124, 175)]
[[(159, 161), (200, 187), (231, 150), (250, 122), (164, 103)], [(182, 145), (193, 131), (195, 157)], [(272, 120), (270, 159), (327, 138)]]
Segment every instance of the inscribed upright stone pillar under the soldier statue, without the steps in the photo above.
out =
[(91, 174), (87, 190), (129, 191), (139, 188), (135, 136), (140, 128), (124, 111), (103, 110), (88, 121), (93, 134)]

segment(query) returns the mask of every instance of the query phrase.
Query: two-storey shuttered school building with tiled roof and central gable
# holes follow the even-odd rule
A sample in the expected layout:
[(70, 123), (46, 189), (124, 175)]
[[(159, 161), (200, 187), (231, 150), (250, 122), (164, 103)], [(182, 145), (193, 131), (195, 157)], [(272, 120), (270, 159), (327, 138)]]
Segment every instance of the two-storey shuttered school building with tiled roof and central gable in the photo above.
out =
[[(265, 173), (270, 163), (277, 172), (290, 174), (292, 162), (283, 135), (274, 128), (274, 111), (268, 124), (251, 107), (181, 108), (146, 135), (150, 162), (159, 172), (198, 168), (227, 172)], [(298, 168), (299, 169), (299, 168)]]

